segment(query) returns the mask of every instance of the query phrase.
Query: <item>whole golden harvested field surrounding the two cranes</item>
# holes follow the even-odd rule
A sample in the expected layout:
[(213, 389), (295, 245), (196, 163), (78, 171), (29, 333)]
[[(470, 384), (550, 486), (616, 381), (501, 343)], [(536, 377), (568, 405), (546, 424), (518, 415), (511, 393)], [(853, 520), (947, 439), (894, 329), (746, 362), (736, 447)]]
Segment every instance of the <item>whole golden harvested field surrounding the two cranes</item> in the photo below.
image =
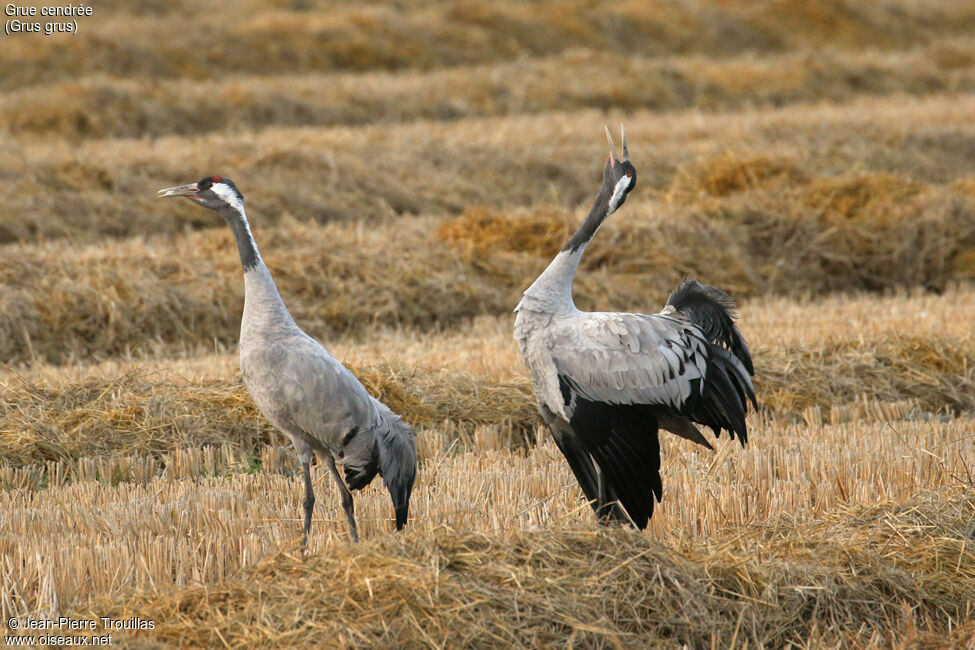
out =
[[(0, 615), (124, 647), (975, 644), (975, 6), (102, 2), (0, 37)], [(511, 309), (623, 121), (576, 283), (739, 299), (749, 446), (595, 525)], [(241, 384), (233, 178), (301, 324), (418, 430), (352, 545)], [(315, 468), (317, 470), (317, 468)], [(118, 641), (121, 639), (121, 641)]]

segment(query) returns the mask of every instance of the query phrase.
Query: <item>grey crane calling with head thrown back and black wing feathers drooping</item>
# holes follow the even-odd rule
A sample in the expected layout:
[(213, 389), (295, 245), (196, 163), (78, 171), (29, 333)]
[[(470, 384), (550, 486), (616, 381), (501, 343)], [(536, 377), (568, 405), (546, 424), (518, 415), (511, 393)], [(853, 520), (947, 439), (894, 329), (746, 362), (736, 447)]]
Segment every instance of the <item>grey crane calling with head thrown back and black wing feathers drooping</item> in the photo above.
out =
[(636, 184), (609, 140), (589, 215), (515, 308), (515, 339), (552, 437), (599, 521), (643, 530), (660, 501), (666, 429), (711, 448), (694, 422), (744, 446), (747, 400), (757, 408), (748, 345), (724, 292), (684, 280), (657, 314), (584, 312), (572, 300), (579, 260)]

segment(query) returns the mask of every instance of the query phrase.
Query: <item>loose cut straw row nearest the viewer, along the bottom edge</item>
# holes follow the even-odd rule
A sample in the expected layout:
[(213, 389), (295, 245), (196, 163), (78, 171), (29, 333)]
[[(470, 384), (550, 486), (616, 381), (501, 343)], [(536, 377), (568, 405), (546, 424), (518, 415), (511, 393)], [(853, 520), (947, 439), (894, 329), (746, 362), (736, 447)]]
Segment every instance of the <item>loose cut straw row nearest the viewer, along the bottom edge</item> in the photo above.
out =
[(499, 540), (445, 528), (308, 558), (282, 552), (217, 585), (92, 611), (166, 621), (126, 634), (131, 647), (961, 646), (975, 642), (973, 508), (970, 497), (927, 497), (783, 517), (734, 531), (728, 546), (747, 545), (744, 562), (724, 539), (678, 552), (623, 530)]

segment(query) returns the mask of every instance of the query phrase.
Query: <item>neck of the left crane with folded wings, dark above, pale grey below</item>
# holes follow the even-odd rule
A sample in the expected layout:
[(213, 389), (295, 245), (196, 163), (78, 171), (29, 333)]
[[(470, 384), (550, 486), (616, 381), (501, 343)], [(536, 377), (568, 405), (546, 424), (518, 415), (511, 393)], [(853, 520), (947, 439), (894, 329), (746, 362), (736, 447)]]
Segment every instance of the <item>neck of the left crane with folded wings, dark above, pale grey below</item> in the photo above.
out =
[(225, 208), (220, 212), (237, 242), (240, 265), (244, 269), (244, 315), (241, 320), (241, 343), (250, 333), (271, 329), (296, 328), (294, 319), (284, 306), (271, 272), (261, 259), (257, 242), (247, 223), (243, 206)]

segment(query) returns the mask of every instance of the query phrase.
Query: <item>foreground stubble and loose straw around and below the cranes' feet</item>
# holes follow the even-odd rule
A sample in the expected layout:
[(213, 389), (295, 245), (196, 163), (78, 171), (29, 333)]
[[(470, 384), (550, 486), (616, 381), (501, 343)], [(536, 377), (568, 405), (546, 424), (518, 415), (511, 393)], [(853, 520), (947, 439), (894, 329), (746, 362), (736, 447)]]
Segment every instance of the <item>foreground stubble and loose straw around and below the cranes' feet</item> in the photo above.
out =
[[(296, 478), (173, 472), (8, 491), (0, 604), (5, 617), (154, 620), (155, 631), (126, 638), (137, 647), (207, 646), (214, 628), (231, 644), (275, 647), (323, 629), (350, 644), (575, 634), (727, 646), (736, 630), (774, 646), (810, 636), (886, 645), (914, 633), (964, 642), (975, 612), (975, 502), (962, 487), (972, 425), (770, 421), (761, 445), (724, 440), (716, 455), (668, 437), (649, 539), (597, 532), (551, 442), (426, 458), (405, 537), (388, 536), (388, 497), (370, 487), (357, 496), (359, 546), (316, 473), (326, 519), (305, 559), (292, 555)], [(450, 436), (427, 434), (442, 445)]]

